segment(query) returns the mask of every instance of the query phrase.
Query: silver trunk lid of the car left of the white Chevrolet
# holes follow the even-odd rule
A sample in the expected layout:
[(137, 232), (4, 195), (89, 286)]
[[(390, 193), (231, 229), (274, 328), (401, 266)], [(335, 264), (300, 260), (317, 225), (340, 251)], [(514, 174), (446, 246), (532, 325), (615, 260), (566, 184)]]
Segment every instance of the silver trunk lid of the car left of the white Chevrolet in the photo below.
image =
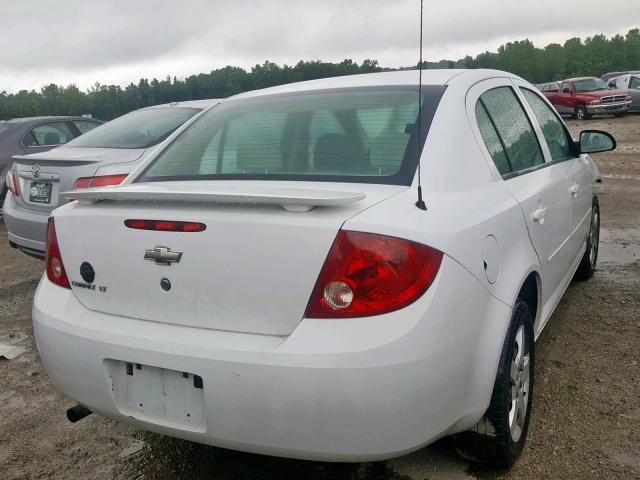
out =
[(78, 178), (93, 176), (107, 161), (135, 161), (144, 151), (145, 149), (58, 147), (42, 153), (15, 155), (13, 160), (21, 192), (17, 201), (30, 210), (53, 210), (65, 203), (60, 194), (71, 190)]

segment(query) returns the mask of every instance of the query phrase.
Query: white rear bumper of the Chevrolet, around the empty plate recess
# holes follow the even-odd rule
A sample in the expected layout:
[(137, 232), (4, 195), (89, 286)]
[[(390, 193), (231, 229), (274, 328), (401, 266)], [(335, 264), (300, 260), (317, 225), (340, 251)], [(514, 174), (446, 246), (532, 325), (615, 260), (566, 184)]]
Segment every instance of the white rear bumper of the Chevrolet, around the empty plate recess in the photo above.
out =
[[(436, 282), (405, 309), (304, 319), (288, 337), (93, 312), (46, 276), (33, 320), (49, 377), (92, 411), (224, 448), (364, 461), (408, 453), (482, 416), (510, 312), (445, 257)], [(204, 427), (125, 414), (112, 392), (110, 359), (201, 376)]]

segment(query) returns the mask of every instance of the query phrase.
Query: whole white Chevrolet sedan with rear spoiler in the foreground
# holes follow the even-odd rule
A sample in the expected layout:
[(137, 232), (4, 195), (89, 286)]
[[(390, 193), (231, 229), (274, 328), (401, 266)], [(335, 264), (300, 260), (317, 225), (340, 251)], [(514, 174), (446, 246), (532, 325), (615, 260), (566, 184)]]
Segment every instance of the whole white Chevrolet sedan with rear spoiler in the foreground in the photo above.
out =
[(70, 420), (329, 461), (453, 434), (513, 463), (534, 340), (596, 268), (586, 154), (615, 141), (574, 142), (504, 72), (418, 92), (404, 71), (244, 93), (69, 193), (33, 320)]

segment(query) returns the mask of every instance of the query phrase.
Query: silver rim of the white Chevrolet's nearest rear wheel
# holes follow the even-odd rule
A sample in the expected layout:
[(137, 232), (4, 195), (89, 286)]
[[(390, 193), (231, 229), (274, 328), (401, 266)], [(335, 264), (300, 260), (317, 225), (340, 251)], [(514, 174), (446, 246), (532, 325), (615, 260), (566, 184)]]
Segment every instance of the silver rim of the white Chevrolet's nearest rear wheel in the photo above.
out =
[(527, 406), (529, 404), (529, 379), (531, 377), (531, 362), (529, 352), (526, 349), (526, 331), (520, 325), (516, 333), (513, 345), (513, 357), (511, 359), (511, 403), (509, 404), (509, 429), (511, 439), (518, 443), (525, 420), (527, 419)]

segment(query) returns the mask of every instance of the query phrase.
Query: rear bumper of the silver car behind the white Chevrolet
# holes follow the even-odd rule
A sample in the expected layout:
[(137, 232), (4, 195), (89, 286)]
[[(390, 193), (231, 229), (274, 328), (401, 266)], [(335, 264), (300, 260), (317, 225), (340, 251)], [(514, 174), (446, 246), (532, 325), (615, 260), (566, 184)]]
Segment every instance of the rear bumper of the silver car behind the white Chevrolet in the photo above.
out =
[(11, 192), (7, 192), (2, 210), (9, 242), (25, 253), (44, 258), (47, 220), (50, 213), (22, 208), (16, 203)]

